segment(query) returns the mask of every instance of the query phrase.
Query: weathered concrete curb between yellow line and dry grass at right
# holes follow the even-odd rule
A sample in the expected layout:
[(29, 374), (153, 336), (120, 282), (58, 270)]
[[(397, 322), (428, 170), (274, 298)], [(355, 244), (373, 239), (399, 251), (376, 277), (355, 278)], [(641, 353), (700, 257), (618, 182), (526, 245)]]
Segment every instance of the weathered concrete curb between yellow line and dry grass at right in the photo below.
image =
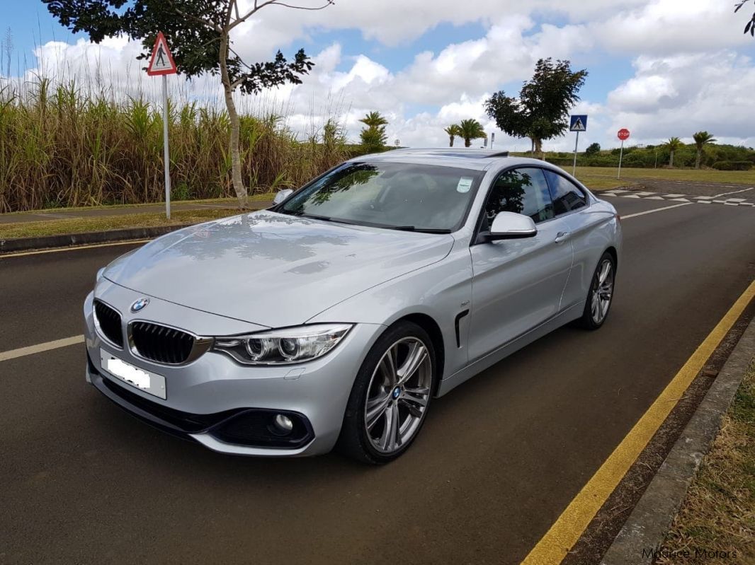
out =
[(687, 423), (649, 487), (606, 551), (601, 565), (654, 563), (658, 549), (685, 499), (687, 489), (716, 438), (755, 356), (755, 319), (744, 331), (718, 377)]

